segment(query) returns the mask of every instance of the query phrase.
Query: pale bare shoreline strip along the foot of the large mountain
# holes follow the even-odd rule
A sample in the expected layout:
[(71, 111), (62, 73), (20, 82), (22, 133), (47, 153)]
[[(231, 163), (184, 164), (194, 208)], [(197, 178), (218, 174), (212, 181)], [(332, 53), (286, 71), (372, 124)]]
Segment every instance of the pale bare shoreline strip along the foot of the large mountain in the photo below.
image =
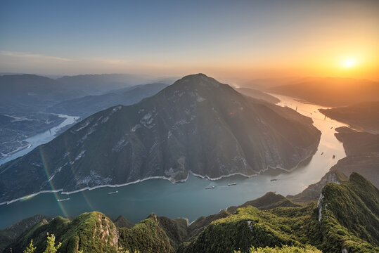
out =
[[(319, 146), (317, 146), (318, 148)], [(196, 174), (194, 173), (193, 171), (189, 170), (188, 171), (188, 174), (186, 176), (186, 179), (180, 179), (180, 180), (175, 180), (173, 178), (170, 178), (170, 177), (167, 177), (167, 176), (148, 176), (147, 178), (145, 179), (138, 179), (136, 181), (131, 181), (131, 182), (127, 182), (127, 183), (120, 183), (120, 184), (106, 184), (106, 185), (101, 185), (101, 186), (93, 186), (93, 187), (84, 187), (84, 188), (81, 188), (79, 190), (72, 190), (72, 191), (63, 191), (63, 189), (58, 189), (58, 190), (41, 190), (37, 193), (32, 193), (32, 194), (29, 194), (29, 195), (25, 195), (23, 197), (18, 197), (16, 199), (13, 199), (13, 200), (8, 200), (8, 201), (4, 201), (4, 202), (1, 202), (0, 203), (0, 206), (1, 205), (10, 205), (11, 203), (13, 202), (17, 202), (19, 200), (24, 200), (24, 199), (27, 199), (29, 197), (34, 197), (34, 196), (37, 196), (39, 194), (42, 194), (42, 193), (60, 193), (60, 194), (65, 194), (65, 195), (70, 195), (70, 194), (74, 194), (74, 193), (79, 193), (79, 192), (82, 192), (84, 190), (95, 190), (97, 188), (105, 188), (105, 187), (109, 187), (109, 188), (117, 188), (117, 187), (122, 187), (122, 186), (129, 186), (131, 184), (134, 184), (134, 183), (141, 183), (143, 181), (147, 181), (147, 180), (150, 180), (150, 179), (163, 179), (163, 180), (168, 180), (170, 181), (171, 183), (185, 183), (188, 178), (189, 178), (189, 175), (192, 174), (193, 176), (196, 176), (200, 179), (207, 179), (209, 181), (217, 181), (217, 180), (220, 180), (220, 179), (224, 179), (224, 178), (228, 178), (228, 177), (231, 177), (231, 176), (244, 176), (246, 178), (251, 178), (251, 177), (254, 177), (254, 176), (259, 176), (260, 174), (264, 173), (264, 171), (268, 171), (269, 169), (281, 169), (283, 171), (286, 171), (286, 172), (291, 172), (293, 171), (294, 169), (297, 169), (297, 167), (299, 167), (299, 165), (304, 162), (305, 160), (309, 159), (309, 157), (312, 157), (314, 154), (316, 154), (316, 151), (317, 151), (317, 148), (314, 150), (313, 153), (311, 153), (311, 155), (308, 155), (307, 157), (304, 157), (302, 160), (300, 160), (297, 165), (295, 165), (295, 167), (293, 168), (290, 168), (290, 169), (284, 169), (282, 167), (266, 167), (266, 169), (262, 169), (261, 171), (259, 172), (256, 172), (255, 174), (251, 174), (251, 175), (247, 175), (247, 174), (243, 174), (243, 173), (240, 173), (240, 172), (234, 172), (234, 173), (231, 173), (231, 174), (227, 174), (227, 175), (221, 175), (221, 176), (218, 176), (216, 178), (212, 178), (210, 176), (203, 176), (203, 175), (200, 175), (200, 174)]]

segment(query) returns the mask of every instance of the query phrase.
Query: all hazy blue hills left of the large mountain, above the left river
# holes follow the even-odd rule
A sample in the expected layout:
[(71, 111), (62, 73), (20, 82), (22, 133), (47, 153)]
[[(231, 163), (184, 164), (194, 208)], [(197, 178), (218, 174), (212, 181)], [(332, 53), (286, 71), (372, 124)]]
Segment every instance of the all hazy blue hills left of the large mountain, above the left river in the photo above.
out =
[[(150, 81), (148, 77), (131, 74), (59, 79), (35, 74), (0, 76), (0, 159), (26, 148), (26, 138), (63, 122), (63, 118), (51, 113), (86, 117), (114, 105), (137, 103), (167, 86), (163, 83), (136, 85), (146, 80)], [(4, 120), (6, 117), (11, 120)]]

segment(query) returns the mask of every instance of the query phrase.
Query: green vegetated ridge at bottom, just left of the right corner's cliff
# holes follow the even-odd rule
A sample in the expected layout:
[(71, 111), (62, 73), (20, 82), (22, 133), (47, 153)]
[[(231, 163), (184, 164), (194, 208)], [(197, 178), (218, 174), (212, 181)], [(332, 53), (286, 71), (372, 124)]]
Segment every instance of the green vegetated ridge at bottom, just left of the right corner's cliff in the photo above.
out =
[[(224, 219), (210, 223), (193, 242), (181, 252), (247, 252), (251, 246), (298, 245), (317, 242), (316, 205), (307, 207), (278, 207), (262, 211), (255, 207), (243, 207)], [(311, 238), (307, 235), (314, 234)], [(211, 243), (210, 243), (211, 242)]]

